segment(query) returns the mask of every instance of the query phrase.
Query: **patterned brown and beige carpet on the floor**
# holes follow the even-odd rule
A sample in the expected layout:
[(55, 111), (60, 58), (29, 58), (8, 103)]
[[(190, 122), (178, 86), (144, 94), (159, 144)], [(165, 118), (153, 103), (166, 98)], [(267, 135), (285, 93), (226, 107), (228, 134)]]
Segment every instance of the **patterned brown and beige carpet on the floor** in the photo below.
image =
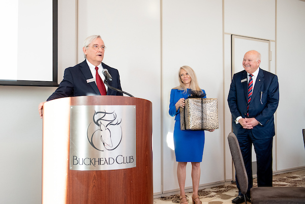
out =
[[(257, 187), (256, 179), (253, 180), (253, 186)], [(305, 187), (305, 169), (273, 175), (273, 186)], [(203, 204), (229, 204), (232, 203), (232, 199), (238, 195), (238, 190), (236, 183), (234, 182), (228, 186), (218, 186), (214, 188), (202, 189), (199, 190), (198, 194)], [(188, 192), (186, 195), (188, 202), (192, 203), (192, 192)], [(179, 203), (179, 194), (155, 198), (154, 203)]]

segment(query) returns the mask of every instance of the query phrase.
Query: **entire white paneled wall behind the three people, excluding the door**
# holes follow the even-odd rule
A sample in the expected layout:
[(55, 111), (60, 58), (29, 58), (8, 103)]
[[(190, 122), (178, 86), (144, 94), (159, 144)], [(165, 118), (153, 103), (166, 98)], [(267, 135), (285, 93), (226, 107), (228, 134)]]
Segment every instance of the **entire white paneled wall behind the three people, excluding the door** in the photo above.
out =
[[(231, 117), (225, 109), (230, 84), (227, 63), (230, 45), (226, 42), (230, 34), (267, 39), (276, 48), (272, 56), (276, 60), (271, 64), (275, 64), (273, 71), (279, 76), (280, 105), (276, 114), (277, 155), (273, 156), (277, 167), (273, 170), (305, 166), (301, 136), (301, 129), (305, 128), (302, 102), (305, 98), (301, 96), (301, 101), (296, 97), (305, 85), (300, 60), (305, 55), (305, 2), (261, 0), (255, 1), (255, 6), (252, 3), (252, 0), (132, 0), (128, 4), (58, 1), (59, 80), (65, 68), (77, 63), (77, 55), (78, 62), (82, 61), (83, 39), (100, 34), (107, 46), (104, 62), (119, 70), (123, 90), (153, 102), (156, 196), (178, 188), (175, 157), (167, 143), (174, 121), (168, 115), (168, 105), (170, 89), (177, 85), (176, 72), (182, 65), (195, 69), (207, 97), (219, 99), (220, 129), (206, 134), (200, 183), (205, 186), (232, 177), (226, 145)], [(256, 14), (260, 17), (253, 17)], [(41, 203), (42, 121), (37, 107), (54, 90), (0, 86), (1, 203)], [(191, 186), (189, 176), (186, 186)]]

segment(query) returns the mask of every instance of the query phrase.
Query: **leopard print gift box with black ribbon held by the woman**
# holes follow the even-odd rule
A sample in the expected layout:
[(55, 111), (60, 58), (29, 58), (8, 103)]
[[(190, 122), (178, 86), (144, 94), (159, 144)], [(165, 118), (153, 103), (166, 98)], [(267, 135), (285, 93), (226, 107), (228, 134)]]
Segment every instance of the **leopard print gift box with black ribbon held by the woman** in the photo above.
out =
[(217, 99), (188, 98), (180, 108), (181, 130), (219, 129)]

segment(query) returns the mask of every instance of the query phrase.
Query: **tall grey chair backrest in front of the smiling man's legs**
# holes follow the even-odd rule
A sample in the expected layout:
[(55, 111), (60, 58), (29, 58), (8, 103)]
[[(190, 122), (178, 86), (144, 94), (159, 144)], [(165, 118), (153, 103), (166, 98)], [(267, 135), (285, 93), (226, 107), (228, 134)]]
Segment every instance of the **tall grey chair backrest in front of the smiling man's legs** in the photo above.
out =
[(235, 166), (236, 177), (240, 187), (240, 192), (243, 194), (243, 198), (245, 198), (245, 202), (247, 204), (246, 193), (248, 190), (248, 176), (245, 163), (243, 162), (243, 158), (240, 152), (238, 140), (233, 132), (229, 134), (228, 141)]

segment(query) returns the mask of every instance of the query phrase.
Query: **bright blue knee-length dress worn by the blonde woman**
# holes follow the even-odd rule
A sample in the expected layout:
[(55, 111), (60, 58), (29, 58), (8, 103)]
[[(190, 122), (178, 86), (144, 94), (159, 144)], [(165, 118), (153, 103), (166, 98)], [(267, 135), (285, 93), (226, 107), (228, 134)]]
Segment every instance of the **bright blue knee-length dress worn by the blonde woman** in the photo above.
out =
[[(204, 90), (202, 90), (203, 93)], [(175, 116), (174, 147), (177, 162), (201, 162), (204, 147), (203, 130), (180, 130), (180, 108), (175, 104), (180, 98), (188, 98), (184, 90), (172, 89), (170, 92), (169, 114)], [(204, 97), (206, 98), (206, 97)]]

